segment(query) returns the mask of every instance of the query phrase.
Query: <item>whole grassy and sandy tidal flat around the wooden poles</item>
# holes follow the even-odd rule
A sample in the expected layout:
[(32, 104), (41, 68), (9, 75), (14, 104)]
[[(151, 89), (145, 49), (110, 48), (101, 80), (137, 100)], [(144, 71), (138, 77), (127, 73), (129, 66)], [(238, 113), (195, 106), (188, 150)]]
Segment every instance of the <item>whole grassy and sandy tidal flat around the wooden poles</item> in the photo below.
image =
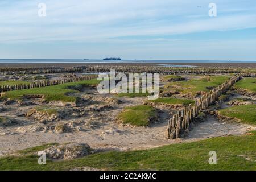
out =
[[(38, 65), (34, 67), (37, 70)], [(85, 72), (105, 72), (106, 66), (100, 65), (82, 65), (68, 71), (65, 67), (52, 67), (51, 71), (40, 67), (27, 74), (9, 68), (12, 74), (2, 74), (0, 86), (5, 90), (0, 96), (0, 169), (255, 169), (255, 67), (209, 67), (202, 73), (200, 67), (114, 68), (118, 72), (123, 69), (125, 74), (131, 70), (158, 72), (159, 98), (100, 94), (100, 81), (94, 77), (60, 81), (75, 80)], [(200, 110), (179, 138), (168, 138), (170, 118), (238, 75), (240, 80), (207, 109)], [(20, 89), (20, 85), (44, 81), (58, 84)], [(220, 166), (207, 166), (204, 159), (208, 150), (220, 152)], [(39, 151), (47, 153), (48, 165), (44, 167), (37, 164)], [(156, 158), (149, 158), (151, 155)], [(191, 163), (180, 161), (190, 160), (189, 155), (193, 156)], [(239, 163), (236, 168), (230, 167), (234, 161)], [(170, 162), (172, 166), (167, 165)]]

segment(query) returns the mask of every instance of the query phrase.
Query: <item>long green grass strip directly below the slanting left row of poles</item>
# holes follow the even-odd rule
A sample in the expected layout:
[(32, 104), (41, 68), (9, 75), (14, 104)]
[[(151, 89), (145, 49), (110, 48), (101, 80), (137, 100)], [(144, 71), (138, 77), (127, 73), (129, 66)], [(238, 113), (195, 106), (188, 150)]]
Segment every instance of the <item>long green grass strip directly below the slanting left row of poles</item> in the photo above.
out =
[(98, 80), (85, 80), (80, 82), (70, 82), (66, 84), (46, 86), (42, 88), (23, 89), (9, 91), (2, 94), (1, 99), (10, 98), (12, 100), (22, 100), (23, 96), (26, 95), (43, 95), (44, 100), (49, 101), (63, 101), (63, 102), (75, 102), (77, 98), (75, 96), (68, 96), (68, 93), (79, 92), (77, 90), (68, 89), (70, 87), (76, 87), (79, 85), (97, 85), (100, 81)]

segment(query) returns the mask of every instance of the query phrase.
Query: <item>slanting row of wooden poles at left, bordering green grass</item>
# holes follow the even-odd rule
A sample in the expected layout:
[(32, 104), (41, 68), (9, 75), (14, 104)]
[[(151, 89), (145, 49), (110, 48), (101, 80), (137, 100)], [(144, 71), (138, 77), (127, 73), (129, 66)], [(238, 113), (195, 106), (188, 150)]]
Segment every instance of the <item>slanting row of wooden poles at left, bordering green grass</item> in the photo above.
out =
[(45, 86), (59, 85), (59, 84), (65, 84), (68, 82), (92, 80), (96, 78), (97, 78), (97, 75), (90, 75), (90, 76), (81, 76), (81, 77), (73, 77), (73, 78), (64, 78), (59, 80), (36, 81), (36, 82), (29, 82), (26, 84), (3, 85), (3, 86), (0, 86), (0, 93), (12, 91), (12, 90), (32, 89), (32, 88), (40, 88)]

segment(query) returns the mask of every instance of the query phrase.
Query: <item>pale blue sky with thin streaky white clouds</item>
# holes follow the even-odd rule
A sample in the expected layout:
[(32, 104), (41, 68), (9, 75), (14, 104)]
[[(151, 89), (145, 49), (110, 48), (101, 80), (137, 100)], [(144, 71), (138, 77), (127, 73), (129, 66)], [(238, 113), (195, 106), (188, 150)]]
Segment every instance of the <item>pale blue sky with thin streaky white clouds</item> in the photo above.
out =
[[(39, 16), (39, 3), (46, 16)], [(209, 16), (215, 3), (217, 16)], [(256, 60), (255, 0), (1, 0), (0, 59)]]

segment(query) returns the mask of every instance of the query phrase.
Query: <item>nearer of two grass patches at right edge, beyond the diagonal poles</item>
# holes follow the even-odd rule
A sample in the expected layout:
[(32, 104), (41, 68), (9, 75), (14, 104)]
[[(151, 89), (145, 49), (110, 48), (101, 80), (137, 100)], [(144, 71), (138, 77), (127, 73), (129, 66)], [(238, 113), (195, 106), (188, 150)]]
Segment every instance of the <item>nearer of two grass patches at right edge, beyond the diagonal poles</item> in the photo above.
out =
[(230, 118), (240, 119), (243, 123), (256, 125), (256, 104), (228, 107), (218, 112)]

